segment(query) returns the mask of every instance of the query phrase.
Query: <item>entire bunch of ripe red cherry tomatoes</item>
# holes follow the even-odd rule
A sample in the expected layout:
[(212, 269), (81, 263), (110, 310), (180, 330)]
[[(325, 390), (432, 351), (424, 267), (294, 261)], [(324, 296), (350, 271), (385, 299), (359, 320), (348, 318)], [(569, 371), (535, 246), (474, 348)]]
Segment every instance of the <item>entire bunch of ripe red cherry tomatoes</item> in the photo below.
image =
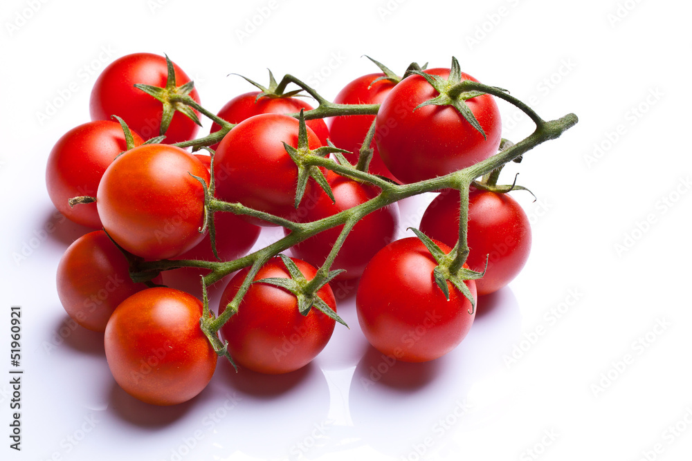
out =
[[(255, 84), (262, 91), (208, 115), (203, 138), (199, 95), (167, 57), (136, 53), (104, 69), (92, 121), (55, 144), (46, 185), (62, 214), (94, 229), (60, 261), (60, 301), (81, 326), (104, 332), (127, 393), (185, 402), (210, 382), (218, 355), (260, 373), (305, 366), (343, 323), (334, 279), (358, 279), (358, 321), (384, 354), (428, 361), (464, 339), (478, 296), (527, 261), (530, 228), (506, 191), (480, 182), (468, 191), (468, 258), (459, 261), (466, 210), (457, 189), (430, 189), (441, 192), (423, 234), (397, 240), (396, 194), (420, 193), (405, 185), (426, 191), (493, 156), (501, 138), (493, 96), (450, 89), (475, 82), (455, 61), (412, 69), (358, 77), (327, 111), (284, 93), (270, 74), (268, 88)], [(248, 255), (270, 225), (283, 225), (284, 238)], [(293, 258), (277, 257), (289, 249)], [(204, 277), (203, 300), (165, 286), (176, 269)], [(206, 282), (235, 270), (212, 312)]]

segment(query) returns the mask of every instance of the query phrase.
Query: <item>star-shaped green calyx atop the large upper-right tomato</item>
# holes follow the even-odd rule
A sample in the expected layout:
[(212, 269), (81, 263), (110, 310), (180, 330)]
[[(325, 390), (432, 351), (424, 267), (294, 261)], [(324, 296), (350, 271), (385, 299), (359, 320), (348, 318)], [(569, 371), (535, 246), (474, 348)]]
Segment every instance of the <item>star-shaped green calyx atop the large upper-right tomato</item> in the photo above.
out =
[(459, 114), (461, 114), (462, 117), (464, 117), (464, 119), (466, 119), (466, 121), (476, 129), (476, 131), (483, 135), (483, 138), (487, 138), (483, 127), (480, 126), (480, 123), (476, 119), (475, 115), (473, 115), (473, 111), (471, 111), (471, 108), (468, 107), (468, 104), (466, 104), (466, 100), (470, 100), (473, 97), (484, 95), (486, 93), (483, 91), (465, 90), (462, 82), (462, 71), (459, 68), (457, 58), (452, 58), (452, 66), (449, 69), (449, 77), (446, 79), (439, 77), (438, 75), (424, 73), (422, 70), (411, 70), (410, 73), (424, 77), (430, 86), (435, 88), (437, 93), (439, 93), (437, 97), (433, 97), (432, 99), (419, 104), (415, 109), (413, 109), (414, 111), (424, 106), (453, 106), (455, 109), (457, 109)]

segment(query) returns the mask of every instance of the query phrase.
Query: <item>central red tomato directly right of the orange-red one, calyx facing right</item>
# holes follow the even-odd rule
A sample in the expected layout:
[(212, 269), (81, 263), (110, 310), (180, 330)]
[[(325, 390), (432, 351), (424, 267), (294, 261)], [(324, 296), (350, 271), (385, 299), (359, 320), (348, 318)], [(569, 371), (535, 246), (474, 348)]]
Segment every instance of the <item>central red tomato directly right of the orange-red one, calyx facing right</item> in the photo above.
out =
[[(310, 149), (322, 144), (308, 127)], [(298, 120), (282, 114), (260, 114), (240, 122), (221, 141), (214, 157), (216, 195), (226, 202), (283, 218), (295, 216), (295, 189), (298, 167), (286, 152), (284, 142), (298, 147)], [(308, 181), (305, 197), (312, 194)], [(246, 218), (255, 225), (271, 225), (264, 220)]]

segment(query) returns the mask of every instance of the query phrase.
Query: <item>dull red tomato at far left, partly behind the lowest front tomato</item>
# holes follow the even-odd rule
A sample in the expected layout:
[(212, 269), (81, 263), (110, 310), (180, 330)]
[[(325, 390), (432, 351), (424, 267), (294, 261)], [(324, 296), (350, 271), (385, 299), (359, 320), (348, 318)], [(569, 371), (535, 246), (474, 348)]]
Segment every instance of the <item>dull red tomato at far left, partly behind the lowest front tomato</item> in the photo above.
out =
[[(154, 283), (161, 283), (161, 276)], [(60, 302), (70, 317), (89, 330), (106, 330), (118, 304), (146, 288), (130, 279), (127, 259), (103, 231), (78, 238), (57, 265)]]

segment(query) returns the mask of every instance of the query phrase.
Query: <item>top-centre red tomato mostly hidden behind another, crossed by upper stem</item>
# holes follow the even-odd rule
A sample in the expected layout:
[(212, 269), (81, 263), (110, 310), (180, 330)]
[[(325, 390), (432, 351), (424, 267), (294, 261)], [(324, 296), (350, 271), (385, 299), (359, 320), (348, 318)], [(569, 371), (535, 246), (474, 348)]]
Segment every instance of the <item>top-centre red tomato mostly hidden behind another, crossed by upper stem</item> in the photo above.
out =
[[(300, 112), (300, 109), (305, 109), (305, 111), (313, 109), (310, 104), (303, 102), (297, 97), (263, 96), (257, 100), (257, 95), (259, 94), (259, 91), (252, 91), (251, 93), (236, 96), (221, 107), (217, 115), (226, 120), (226, 122), (240, 123), (246, 118), (260, 115), (261, 113), (297, 113)], [(320, 138), (320, 142), (326, 146), (327, 138), (329, 138), (329, 129), (327, 129), (325, 121), (321, 118), (316, 118), (307, 120), (305, 124), (315, 132), (317, 137)], [(215, 133), (220, 129), (221, 126), (214, 123), (210, 133)], [(219, 148), (219, 144), (214, 144), (211, 148), (216, 150)]]

